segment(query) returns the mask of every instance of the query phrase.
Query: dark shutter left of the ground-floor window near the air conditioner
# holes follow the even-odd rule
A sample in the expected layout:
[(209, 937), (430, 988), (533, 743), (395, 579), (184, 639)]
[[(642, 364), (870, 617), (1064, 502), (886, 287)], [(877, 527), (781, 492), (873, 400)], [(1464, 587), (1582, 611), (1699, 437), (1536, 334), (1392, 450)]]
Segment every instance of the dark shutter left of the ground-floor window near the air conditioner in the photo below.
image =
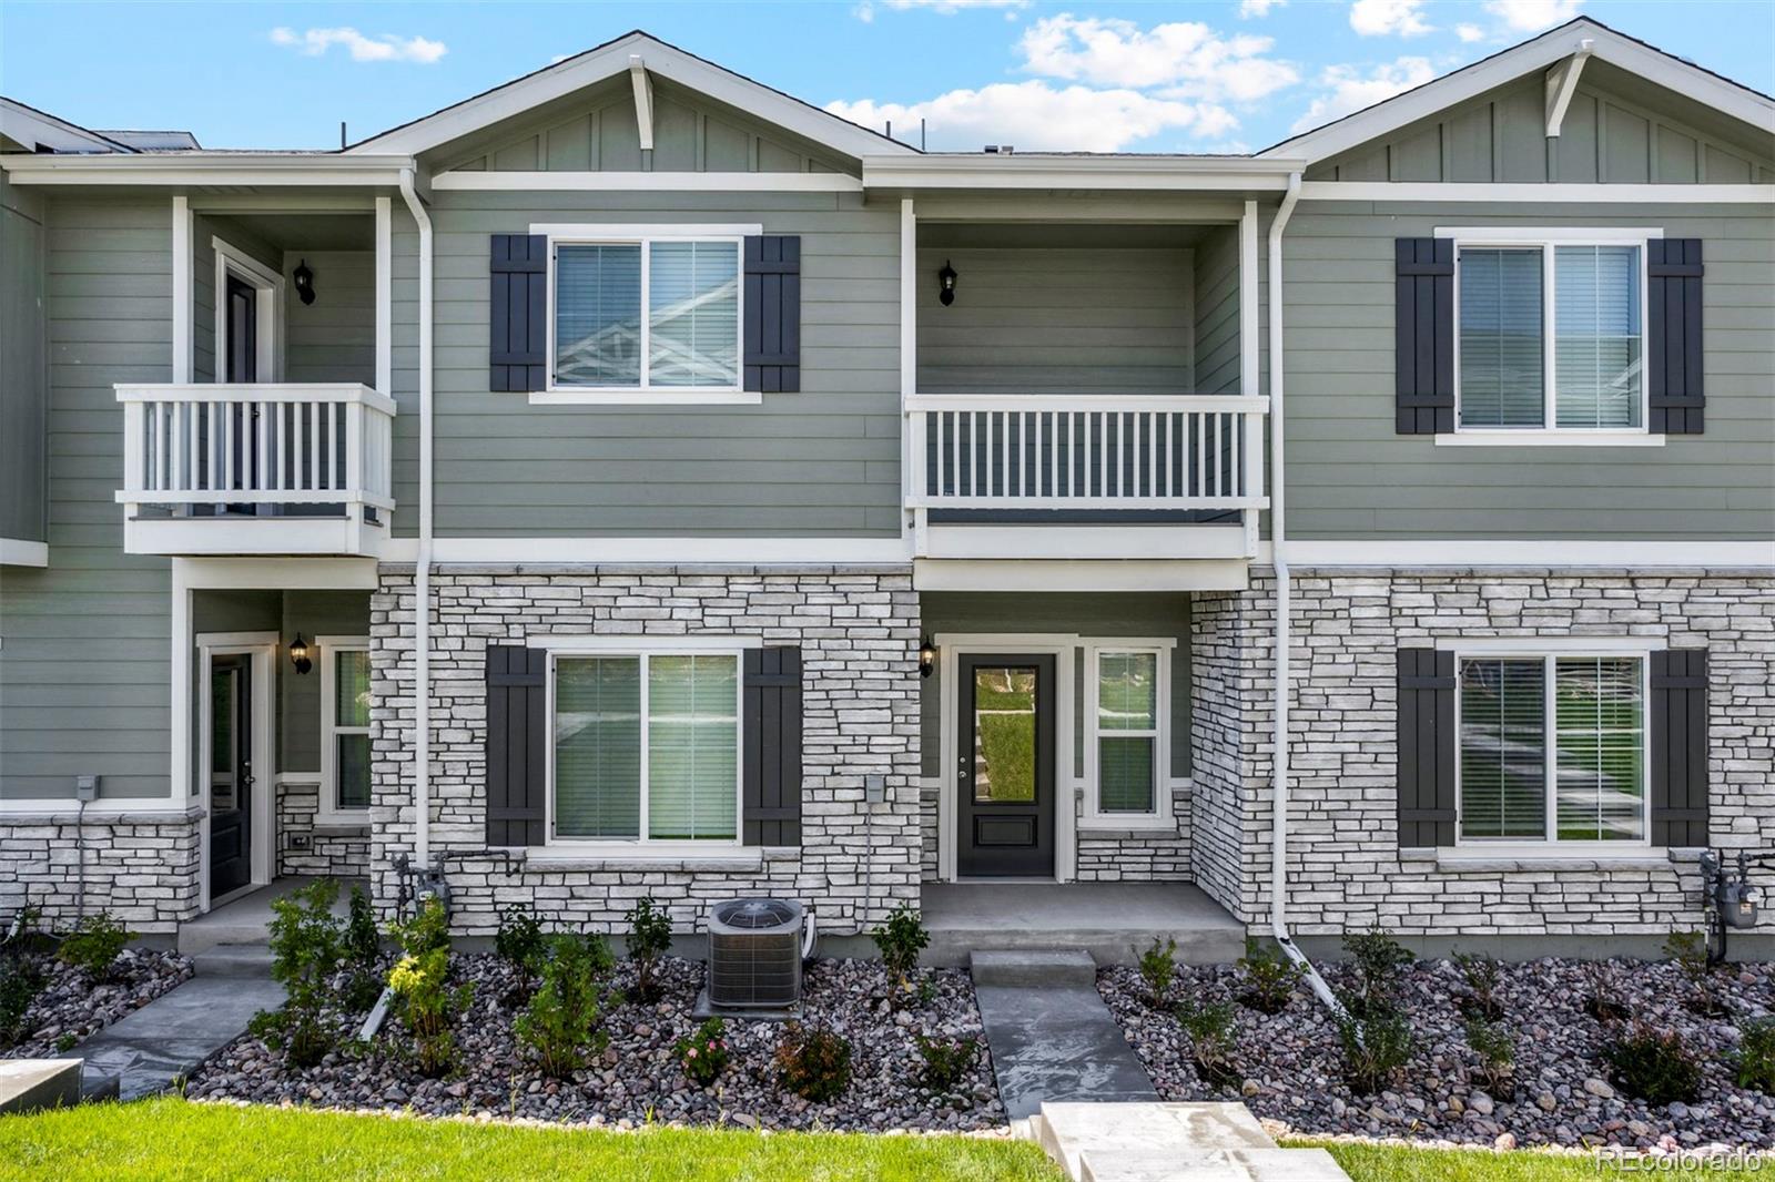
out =
[(541, 845), (548, 653), (486, 648), (486, 843)]

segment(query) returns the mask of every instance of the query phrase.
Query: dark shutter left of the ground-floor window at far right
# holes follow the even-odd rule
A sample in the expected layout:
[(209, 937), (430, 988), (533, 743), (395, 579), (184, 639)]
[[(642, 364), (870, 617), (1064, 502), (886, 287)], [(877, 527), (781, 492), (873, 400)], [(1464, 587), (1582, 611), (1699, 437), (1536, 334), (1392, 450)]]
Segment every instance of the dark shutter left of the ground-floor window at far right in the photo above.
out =
[(1454, 653), (1399, 650), (1399, 845), (1454, 845)]

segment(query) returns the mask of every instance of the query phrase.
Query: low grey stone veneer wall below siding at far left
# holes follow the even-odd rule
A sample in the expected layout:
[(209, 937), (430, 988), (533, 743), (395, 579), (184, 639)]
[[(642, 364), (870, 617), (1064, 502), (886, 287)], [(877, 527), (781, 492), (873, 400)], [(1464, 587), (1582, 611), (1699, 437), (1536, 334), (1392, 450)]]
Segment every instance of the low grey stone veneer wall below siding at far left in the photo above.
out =
[(64, 800), (43, 813), (0, 818), (0, 916), (36, 907), (51, 926), (80, 909), (85, 838), (85, 914), (108, 910), (131, 932), (165, 934), (197, 914), (201, 815), (91, 815), (83, 827)]

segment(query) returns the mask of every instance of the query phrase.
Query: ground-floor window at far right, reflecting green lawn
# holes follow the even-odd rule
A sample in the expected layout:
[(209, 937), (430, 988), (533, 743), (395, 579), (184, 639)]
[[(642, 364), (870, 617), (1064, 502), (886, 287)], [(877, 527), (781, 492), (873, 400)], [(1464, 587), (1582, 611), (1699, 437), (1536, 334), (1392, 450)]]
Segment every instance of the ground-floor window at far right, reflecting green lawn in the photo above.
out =
[(1459, 841), (1645, 845), (1644, 653), (1457, 655)]

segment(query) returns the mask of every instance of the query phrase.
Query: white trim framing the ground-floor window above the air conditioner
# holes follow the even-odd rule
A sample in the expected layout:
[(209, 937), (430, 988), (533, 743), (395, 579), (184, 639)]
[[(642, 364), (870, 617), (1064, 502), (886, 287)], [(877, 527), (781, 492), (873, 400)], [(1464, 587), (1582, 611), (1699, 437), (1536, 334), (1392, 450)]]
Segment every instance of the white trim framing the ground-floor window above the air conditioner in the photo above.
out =
[[(669, 637), (660, 642), (651, 642), (648, 637), (564, 637), (550, 635), (538, 637), (538, 641), (529, 642), (531, 648), (547, 648), (548, 651), (548, 678), (547, 678), (547, 705), (543, 706), (548, 713), (548, 735), (545, 737), (547, 747), (547, 793), (545, 793), (545, 813), (543, 813), (543, 845), (557, 850), (572, 850), (586, 854), (588, 857), (623, 857), (623, 855), (644, 855), (644, 857), (671, 857), (671, 859), (696, 859), (696, 857), (731, 857), (733, 850), (744, 850), (746, 847), (746, 650), (760, 648), (761, 641), (756, 637)], [(735, 776), (733, 776), (733, 838), (728, 841), (653, 841), (650, 838), (557, 838), (554, 829), (554, 800), (556, 800), (556, 666), (561, 657), (575, 655), (596, 655), (596, 657), (634, 657), (641, 662), (641, 799), (639, 799), (639, 825), (644, 831), (648, 825), (648, 662), (653, 657), (733, 657), (733, 742), (735, 742)]]

